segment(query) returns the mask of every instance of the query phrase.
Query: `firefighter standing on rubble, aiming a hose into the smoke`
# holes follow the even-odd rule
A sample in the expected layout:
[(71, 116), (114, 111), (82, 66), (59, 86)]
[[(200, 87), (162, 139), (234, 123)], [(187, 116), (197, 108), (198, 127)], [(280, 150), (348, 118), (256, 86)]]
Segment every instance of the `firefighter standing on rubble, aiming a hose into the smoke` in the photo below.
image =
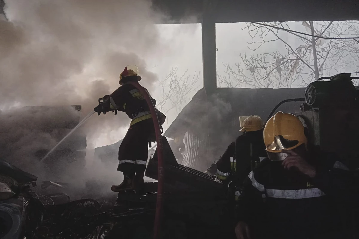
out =
[[(123, 172), (123, 182), (111, 187), (114, 192), (133, 190), (143, 184), (148, 145), (155, 137), (152, 116), (144, 96), (136, 87), (126, 84), (129, 81), (138, 82), (140, 80), (138, 67), (126, 66), (120, 74), (119, 83), (121, 86), (111, 95), (104, 96), (103, 103), (94, 109), (98, 114), (120, 110), (132, 119), (125, 138), (123, 138), (118, 149), (117, 170)], [(152, 97), (151, 100), (156, 105), (156, 100)], [(156, 111), (160, 125), (162, 125), (165, 121), (165, 115), (157, 109)]]

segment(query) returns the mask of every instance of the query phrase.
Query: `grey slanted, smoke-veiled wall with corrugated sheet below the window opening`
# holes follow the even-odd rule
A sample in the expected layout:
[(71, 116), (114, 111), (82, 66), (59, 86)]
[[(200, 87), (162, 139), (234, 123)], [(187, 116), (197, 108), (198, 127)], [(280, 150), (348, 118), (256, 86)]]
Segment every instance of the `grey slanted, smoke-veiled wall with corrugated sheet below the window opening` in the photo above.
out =
[[(255, 114), (266, 119), (278, 102), (300, 98), (303, 94), (304, 88), (217, 88), (211, 97), (207, 97), (205, 89), (201, 89), (164, 136), (183, 141), (182, 164), (204, 172), (239, 135), (239, 116)], [(299, 112), (300, 106), (289, 102), (278, 110)]]

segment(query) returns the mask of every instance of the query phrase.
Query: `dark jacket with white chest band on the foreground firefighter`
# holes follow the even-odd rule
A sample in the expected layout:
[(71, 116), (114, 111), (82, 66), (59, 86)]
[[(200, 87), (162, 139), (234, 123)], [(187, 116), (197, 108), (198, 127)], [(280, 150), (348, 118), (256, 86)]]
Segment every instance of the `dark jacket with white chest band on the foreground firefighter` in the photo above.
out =
[(314, 178), (282, 162), (265, 158), (248, 175), (237, 220), (254, 238), (346, 238), (339, 207), (358, 204), (357, 177), (328, 154), (311, 159)]

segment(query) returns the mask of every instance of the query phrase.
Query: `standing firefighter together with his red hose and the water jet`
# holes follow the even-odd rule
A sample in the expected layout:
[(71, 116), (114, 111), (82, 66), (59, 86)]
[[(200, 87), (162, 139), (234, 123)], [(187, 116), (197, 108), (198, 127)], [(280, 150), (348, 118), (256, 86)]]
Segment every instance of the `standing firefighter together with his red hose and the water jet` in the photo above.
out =
[(123, 138), (118, 152), (118, 171), (123, 172), (123, 182), (113, 185), (114, 192), (139, 191), (143, 186), (144, 171), (148, 157), (148, 146), (157, 142), (158, 151), (158, 190), (156, 214), (154, 220), (154, 238), (158, 238), (162, 214), (163, 160), (162, 160), (162, 124), (166, 116), (155, 108), (156, 100), (137, 82), (141, 80), (137, 66), (126, 66), (120, 74), (120, 87), (111, 95), (100, 98), (99, 105), (71, 130), (41, 159), (45, 160), (66, 138), (75, 132), (95, 112), (100, 115), (108, 111), (123, 111), (132, 119), (130, 128)]

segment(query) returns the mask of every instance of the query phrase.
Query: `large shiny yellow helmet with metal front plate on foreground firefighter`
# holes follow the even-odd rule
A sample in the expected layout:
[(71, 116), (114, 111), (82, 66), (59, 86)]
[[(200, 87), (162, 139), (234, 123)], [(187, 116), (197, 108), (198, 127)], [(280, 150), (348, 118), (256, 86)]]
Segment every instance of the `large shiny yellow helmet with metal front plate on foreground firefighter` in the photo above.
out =
[(277, 112), (266, 123), (263, 132), (267, 152), (280, 153), (305, 144), (307, 137), (300, 119), (289, 113)]

